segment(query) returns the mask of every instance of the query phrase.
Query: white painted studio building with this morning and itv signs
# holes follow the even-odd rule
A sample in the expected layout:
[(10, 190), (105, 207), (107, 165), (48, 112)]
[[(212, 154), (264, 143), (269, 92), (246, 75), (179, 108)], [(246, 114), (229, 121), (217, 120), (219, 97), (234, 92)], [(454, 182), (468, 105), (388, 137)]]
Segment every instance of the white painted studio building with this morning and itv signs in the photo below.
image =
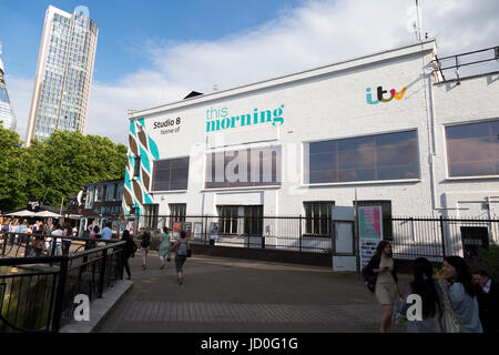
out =
[(429, 40), (135, 111), (124, 211), (498, 214), (499, 72), (445, 80), (436, 55)]

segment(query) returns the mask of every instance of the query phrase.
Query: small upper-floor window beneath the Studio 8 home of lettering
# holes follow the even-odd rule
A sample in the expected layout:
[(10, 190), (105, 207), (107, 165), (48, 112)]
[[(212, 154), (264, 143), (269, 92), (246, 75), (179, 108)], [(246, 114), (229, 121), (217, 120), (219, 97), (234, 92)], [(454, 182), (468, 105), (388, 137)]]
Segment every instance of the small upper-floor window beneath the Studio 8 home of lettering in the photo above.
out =
[(189, 158), (154, 162), (153, 191), (187, 190)]

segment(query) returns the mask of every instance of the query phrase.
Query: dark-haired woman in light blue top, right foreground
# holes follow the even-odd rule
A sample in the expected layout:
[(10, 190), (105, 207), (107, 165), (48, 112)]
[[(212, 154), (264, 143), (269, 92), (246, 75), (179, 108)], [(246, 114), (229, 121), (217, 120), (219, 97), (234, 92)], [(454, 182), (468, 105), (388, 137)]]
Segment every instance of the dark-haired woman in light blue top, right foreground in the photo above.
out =
[(471, 273), (466, 261), (460, 256), (444, 260), (442, 273), (438, 280), (450, 301), (450, 306), (462, 320), (465, 333), (483, 333), (480, 323), (478, 300), (472, 284)]

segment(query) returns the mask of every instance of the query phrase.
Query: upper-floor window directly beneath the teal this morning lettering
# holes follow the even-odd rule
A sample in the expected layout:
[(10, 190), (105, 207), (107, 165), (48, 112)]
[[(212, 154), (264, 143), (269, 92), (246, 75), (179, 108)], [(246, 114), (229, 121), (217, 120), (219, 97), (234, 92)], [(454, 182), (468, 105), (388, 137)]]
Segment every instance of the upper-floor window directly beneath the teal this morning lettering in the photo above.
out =
[(206, 155), (206, 189), (281, 185), (281, 146)]

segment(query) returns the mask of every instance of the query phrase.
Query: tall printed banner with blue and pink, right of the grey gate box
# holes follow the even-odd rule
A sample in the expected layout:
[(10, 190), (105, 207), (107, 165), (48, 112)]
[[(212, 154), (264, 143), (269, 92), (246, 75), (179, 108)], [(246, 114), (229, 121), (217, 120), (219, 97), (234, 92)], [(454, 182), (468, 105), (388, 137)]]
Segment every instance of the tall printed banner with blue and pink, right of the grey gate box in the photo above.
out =
[(358, 207), (358, 234), (360, 268), (364, 268), (376, 253), (383, 240), (383, 214), (380, 206)]

